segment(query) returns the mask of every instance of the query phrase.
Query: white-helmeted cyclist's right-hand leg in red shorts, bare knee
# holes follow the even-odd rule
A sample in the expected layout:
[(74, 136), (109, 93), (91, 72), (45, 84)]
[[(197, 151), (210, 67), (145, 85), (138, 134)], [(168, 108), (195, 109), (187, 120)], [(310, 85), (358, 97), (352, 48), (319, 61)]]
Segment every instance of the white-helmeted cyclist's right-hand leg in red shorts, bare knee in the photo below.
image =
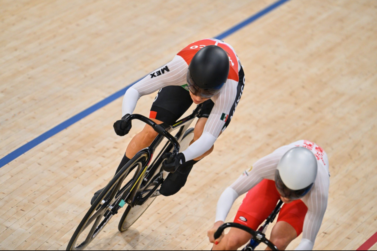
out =
[(288, 244), (301, 234), (307, 211), (307, 206), (301, 200), (282, 206), (270, 237), (279, 250), (287, 248)]

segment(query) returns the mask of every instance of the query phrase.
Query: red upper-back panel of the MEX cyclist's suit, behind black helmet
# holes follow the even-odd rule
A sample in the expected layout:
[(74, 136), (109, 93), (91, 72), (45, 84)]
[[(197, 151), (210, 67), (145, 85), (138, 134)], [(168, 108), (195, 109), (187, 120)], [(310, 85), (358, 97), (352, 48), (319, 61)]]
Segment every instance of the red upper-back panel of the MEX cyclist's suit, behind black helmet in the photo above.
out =
[(236, 57), (236, 54), (234, 53), (233, 49), (228, 46), (227, 43), (222, 42), (221, 40), (215, 40), (215, 39), (203, 39), (196, 41), (192, 44), (189, 44), (184, 49), (182, 49), (180, 52), (177, 53), (178, 56), (181, 56), (187, 63), (187, 65), (190, 64), (191, 59), (194, 57), (196, 52), (198, 50), (202, 49), (205, 46), (208, 45), (217, 45), (225, 50), (226, 53), (228, 53), (229, 57), (229, 75), (228, 79), (233, 79), (238, 82), (238, 60)]

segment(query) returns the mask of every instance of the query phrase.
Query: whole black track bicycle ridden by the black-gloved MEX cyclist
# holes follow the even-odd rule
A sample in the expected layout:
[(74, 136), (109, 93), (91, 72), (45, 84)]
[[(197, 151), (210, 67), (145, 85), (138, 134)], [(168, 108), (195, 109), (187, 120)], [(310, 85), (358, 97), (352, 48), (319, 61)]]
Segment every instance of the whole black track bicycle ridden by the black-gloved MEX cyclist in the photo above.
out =
[[(132, 114), (127, 117), (128, 120), (137, 119), (152, 126), (158, 135), (149, 147), (135, 154), (110, 180), (81, 220), (69, 240), (66, 250), (83, 250), (100, 233), (112, 216), (126, 204), (127, 208), (118, 224), (118, 230), (121, 232), (126, 231), (147, 210), (159, 195), (158, 188), (164, 182), (164, 174), (167, 173), (162, 170), (162, 162), (165, 160), (162, 155), (172, 152), (170, 158), (173, 159), (180, 150), (189, 146), (194, 137), (194, 128), (189, 129), (189, 127), (201, 109), (202, 104), (199, 104), (192, 114), (179, 120), (173, 126), (167, 126), (164, 123), (158, 125), (140, 114)], [(179, 130), (175, 136), (170, 134), (176, 129)], [(155, 149), (164, 138), (167, 138), (167, 143), (150, 164)], [(133, 170), (135, 173), (132, 178), (122, 186), (126, 177)], [(93, 225), (89, 228), (91, 224)], [(81, 238), (78, 240), (79, 237), (84, 237), (84, 240)]]

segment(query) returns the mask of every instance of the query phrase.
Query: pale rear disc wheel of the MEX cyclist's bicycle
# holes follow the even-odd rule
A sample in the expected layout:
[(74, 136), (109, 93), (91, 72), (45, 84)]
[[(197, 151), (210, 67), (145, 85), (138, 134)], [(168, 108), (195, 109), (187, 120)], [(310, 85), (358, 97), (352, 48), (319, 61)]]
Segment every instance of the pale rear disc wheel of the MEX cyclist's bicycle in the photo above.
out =
[[(190, 135), (190, 137), (189, 137)], [(191, 137), (192, 136), (192, 137)], [(181, 145), (180, 152), (184, 151), (190, 144), (191, 140), (194, 137), (194, 128), (189, 128), (185, 131), (185, 134), (182, 137), (182, 140), (179, 142), (179, 145)], [(189, 139), (188, 142), (182, 142), (184, 139)], [(186, 144), (187, 143), (187, 144)], [(122, 218), (119, 221), (118, 224), (118, 230), (120, 232), (126, 231), (129, 227), (132, 226), (132, 224), (137, 221), (140, 216), (147, 210), (147, 208), (152, 204), (152, 202), (156, 199), (156, 197), (147, 199), (146, 202), (144, 202), (143, 205), (135, 205), (134, 207), (131, 207), (130, 205), (126, 208), (126, 211), (124, 211)]]

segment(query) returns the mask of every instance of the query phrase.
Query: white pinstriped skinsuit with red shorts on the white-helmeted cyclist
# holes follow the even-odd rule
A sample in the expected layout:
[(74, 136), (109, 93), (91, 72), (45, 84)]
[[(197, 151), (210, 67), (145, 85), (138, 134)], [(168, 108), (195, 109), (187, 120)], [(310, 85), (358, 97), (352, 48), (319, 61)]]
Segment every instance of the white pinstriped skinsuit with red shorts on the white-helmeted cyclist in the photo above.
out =
[[(283, 205), (278, 221), (286, 221), (291, 224), (297, 235), (302, 231), (302, 239), (296, 250), (313, 249), (327, 207), (330, 180), (326, 152), (308, 140), (299, 140), (282, 146), (258, 160), (249, 170), (242, 173), (220, 196), (216, 209), (216, 221), (225, 221), (236, 198), (248, 192), (234, 221), (256, 230), (271, 213), (280, 198), (274, 181), (277, 164), (288, 150), (296, 146), (305, 147), (316, 156), (317, 177), (307, 195), (300, 200)], [(242, 219), (247, 221), (242, 221)]]

